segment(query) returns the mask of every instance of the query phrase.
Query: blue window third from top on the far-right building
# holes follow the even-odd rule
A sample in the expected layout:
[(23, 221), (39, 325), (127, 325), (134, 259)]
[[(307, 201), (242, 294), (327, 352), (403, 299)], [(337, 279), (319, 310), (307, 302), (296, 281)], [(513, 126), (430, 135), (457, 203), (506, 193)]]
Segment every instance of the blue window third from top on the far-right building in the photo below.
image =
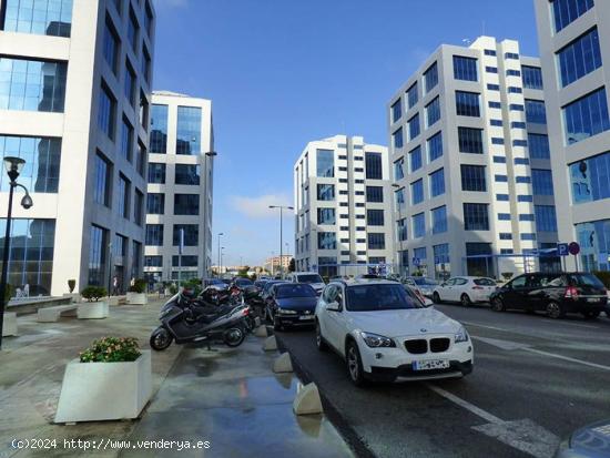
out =
[(606, 88), (563, 106), (566, 142), (573, 144), (610, 129)]

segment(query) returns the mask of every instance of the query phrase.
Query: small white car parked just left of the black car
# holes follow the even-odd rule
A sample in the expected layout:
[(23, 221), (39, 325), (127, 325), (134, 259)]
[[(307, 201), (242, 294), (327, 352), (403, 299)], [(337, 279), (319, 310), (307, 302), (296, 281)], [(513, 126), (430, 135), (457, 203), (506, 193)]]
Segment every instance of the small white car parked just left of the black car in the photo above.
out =
[(489, 302), (489, 295), (496, 291), (496, 281), (487, 277), (451, 277), (434, 288), (435, 304), (459, 302), (468, 307), (476, 303)]

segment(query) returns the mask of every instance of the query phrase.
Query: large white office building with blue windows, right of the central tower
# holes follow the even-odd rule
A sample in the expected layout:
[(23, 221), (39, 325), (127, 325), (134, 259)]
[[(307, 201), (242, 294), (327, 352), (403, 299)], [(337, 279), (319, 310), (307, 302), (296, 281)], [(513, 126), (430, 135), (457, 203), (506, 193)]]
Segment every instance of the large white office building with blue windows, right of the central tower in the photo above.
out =
[[(512, 40), (440, 45), (387, 105), (399, 269), (555, 268), (540, 63)], [(523, 257), (527, 255), (527, 257)]]

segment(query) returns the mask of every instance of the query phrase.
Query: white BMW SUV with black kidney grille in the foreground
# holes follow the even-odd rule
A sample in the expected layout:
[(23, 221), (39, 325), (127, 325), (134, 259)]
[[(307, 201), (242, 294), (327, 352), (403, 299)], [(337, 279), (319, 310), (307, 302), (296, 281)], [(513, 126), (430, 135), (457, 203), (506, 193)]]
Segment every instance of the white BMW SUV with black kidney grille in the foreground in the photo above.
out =
[(352, 381), (462, 377), (472, 372), (466, 328), (396, 282), (334, 282), (315, 313), (316, 344), (347, 364)]

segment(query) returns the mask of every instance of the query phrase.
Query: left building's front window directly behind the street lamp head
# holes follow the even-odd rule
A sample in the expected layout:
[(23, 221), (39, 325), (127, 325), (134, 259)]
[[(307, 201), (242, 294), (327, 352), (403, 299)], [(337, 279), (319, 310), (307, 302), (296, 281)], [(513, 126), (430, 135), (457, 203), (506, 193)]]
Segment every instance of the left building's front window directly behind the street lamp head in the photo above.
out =
[[(19, 183), (34, 193), (57, 193), (61, 162), (61, 139), (0, 135), (0, 157), (26, 160)], [(1, 191), (8, 192), (9, 179), (0, 176)]]

